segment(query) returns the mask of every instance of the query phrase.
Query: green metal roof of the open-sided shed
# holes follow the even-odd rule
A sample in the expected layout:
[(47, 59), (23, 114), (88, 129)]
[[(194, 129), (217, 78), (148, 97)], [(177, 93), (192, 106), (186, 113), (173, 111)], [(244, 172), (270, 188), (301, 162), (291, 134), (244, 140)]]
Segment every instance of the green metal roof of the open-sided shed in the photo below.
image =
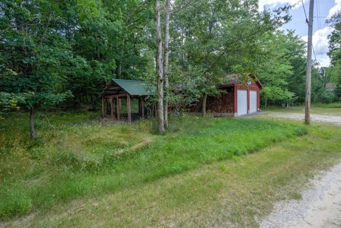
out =
[(151, 94), (151, 85), (148, 82), (116, 78), (112, 81), (132, 96), (148, 96)]

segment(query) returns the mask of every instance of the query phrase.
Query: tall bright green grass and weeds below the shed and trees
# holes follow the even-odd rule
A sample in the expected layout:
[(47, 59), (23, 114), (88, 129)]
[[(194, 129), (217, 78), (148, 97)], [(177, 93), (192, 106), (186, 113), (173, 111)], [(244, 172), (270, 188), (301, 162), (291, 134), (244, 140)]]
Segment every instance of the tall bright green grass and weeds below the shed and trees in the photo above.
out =
[(115, 192), (307, 134), (304, 126), (264, 119), (185, 115), (173, 117), (168, 134), (157, 136), (151, 121), (128, 126), (94, 116), (41, 115), (34, 143), (24, 114), (1, 122), (0, 217)]

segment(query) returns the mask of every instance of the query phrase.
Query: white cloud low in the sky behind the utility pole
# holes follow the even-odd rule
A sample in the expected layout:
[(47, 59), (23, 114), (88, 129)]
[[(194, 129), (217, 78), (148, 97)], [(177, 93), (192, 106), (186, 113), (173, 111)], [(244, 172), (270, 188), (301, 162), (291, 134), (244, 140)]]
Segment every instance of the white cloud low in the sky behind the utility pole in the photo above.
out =
[[(331, 27), (325, 27), (313, 33), (313, 46), (315, 49), (315, 55), (320, 65), (326, 67), (330, 64), (328, 53), (328, 36), (332, 32)], [(308, 36), (303, 36), (302, 39), (308, 42)], [(313, 56), (313, 58), (315, 58)]]

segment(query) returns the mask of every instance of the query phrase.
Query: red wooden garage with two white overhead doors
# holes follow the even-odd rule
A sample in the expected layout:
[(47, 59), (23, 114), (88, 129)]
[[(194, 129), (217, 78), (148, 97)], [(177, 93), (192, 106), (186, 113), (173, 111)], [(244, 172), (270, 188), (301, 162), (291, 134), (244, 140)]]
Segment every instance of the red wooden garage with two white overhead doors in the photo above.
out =
[[(256, 76), (227, 75), (226, 83), (217, 87), (224, 92), (220, 97), (207, 97), (207, 112), (217, 116), (242, 116), (260, 111), (259, 94), (263, 86)], [(194, 112), (201, 109), (202, 100), (192, 107)]]

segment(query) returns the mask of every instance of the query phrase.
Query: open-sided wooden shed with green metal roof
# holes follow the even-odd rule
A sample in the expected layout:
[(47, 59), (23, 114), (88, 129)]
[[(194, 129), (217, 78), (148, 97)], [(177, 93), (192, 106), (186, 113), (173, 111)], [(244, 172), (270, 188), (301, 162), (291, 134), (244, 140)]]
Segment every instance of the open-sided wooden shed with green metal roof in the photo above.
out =
[(113, 79), (102, 92), (102, 117), (131, 120), (153, 114), (146, 108), (145, 100), (151, 92), (148, 82)]

